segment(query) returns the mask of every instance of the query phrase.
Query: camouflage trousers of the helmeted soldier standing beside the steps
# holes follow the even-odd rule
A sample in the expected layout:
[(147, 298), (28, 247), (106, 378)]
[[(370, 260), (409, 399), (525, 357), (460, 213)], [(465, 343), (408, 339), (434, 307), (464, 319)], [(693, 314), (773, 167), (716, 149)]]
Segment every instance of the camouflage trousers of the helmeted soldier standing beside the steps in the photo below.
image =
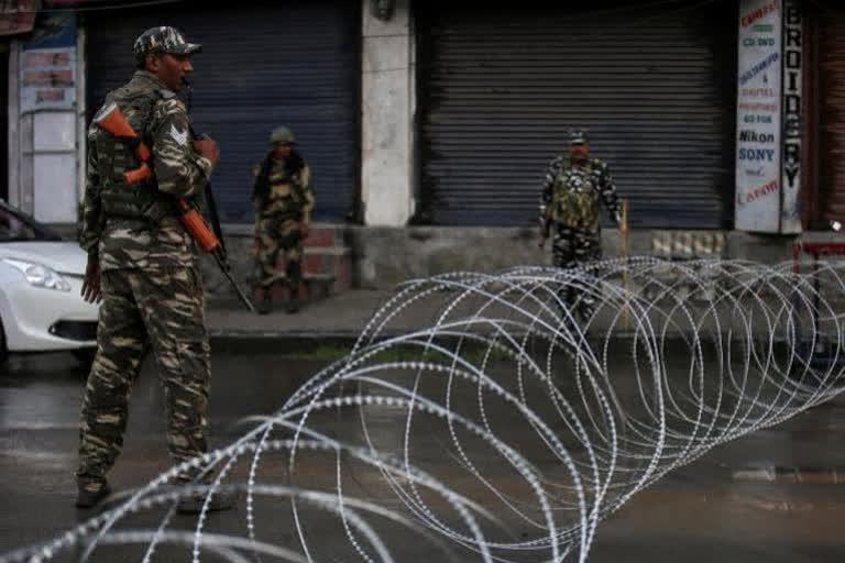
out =
[(285, 257), (285, 275), (290, 291), (299, 288), (303, 278), (301, 223), (296, 219), (261, 218), (256, 225), (255, 282), (263, 288), (273, 285), (278, 253)]

